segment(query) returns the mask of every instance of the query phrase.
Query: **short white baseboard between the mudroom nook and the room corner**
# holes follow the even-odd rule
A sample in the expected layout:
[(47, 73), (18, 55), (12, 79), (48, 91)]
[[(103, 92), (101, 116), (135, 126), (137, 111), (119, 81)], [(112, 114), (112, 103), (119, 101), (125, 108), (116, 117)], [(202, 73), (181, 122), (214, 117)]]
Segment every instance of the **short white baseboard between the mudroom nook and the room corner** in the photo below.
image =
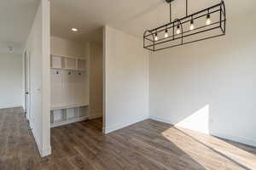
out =
[(138, 118), (137, 120), (130, 121), (130, 122), (120, 122), (120, 123), (115, 124), (111, 127), (103, 127), (103, 133), (105, 133), (105, 134), (112, 133), (113, 131), (119, 130), (119, 129), (124, 128), (124, 127), (131, 126), (132, 124), (135, 124), (137, 122), (142, 122), (146, 119), (148, 119), (148, 116), (143, 116), (141, 118)]

